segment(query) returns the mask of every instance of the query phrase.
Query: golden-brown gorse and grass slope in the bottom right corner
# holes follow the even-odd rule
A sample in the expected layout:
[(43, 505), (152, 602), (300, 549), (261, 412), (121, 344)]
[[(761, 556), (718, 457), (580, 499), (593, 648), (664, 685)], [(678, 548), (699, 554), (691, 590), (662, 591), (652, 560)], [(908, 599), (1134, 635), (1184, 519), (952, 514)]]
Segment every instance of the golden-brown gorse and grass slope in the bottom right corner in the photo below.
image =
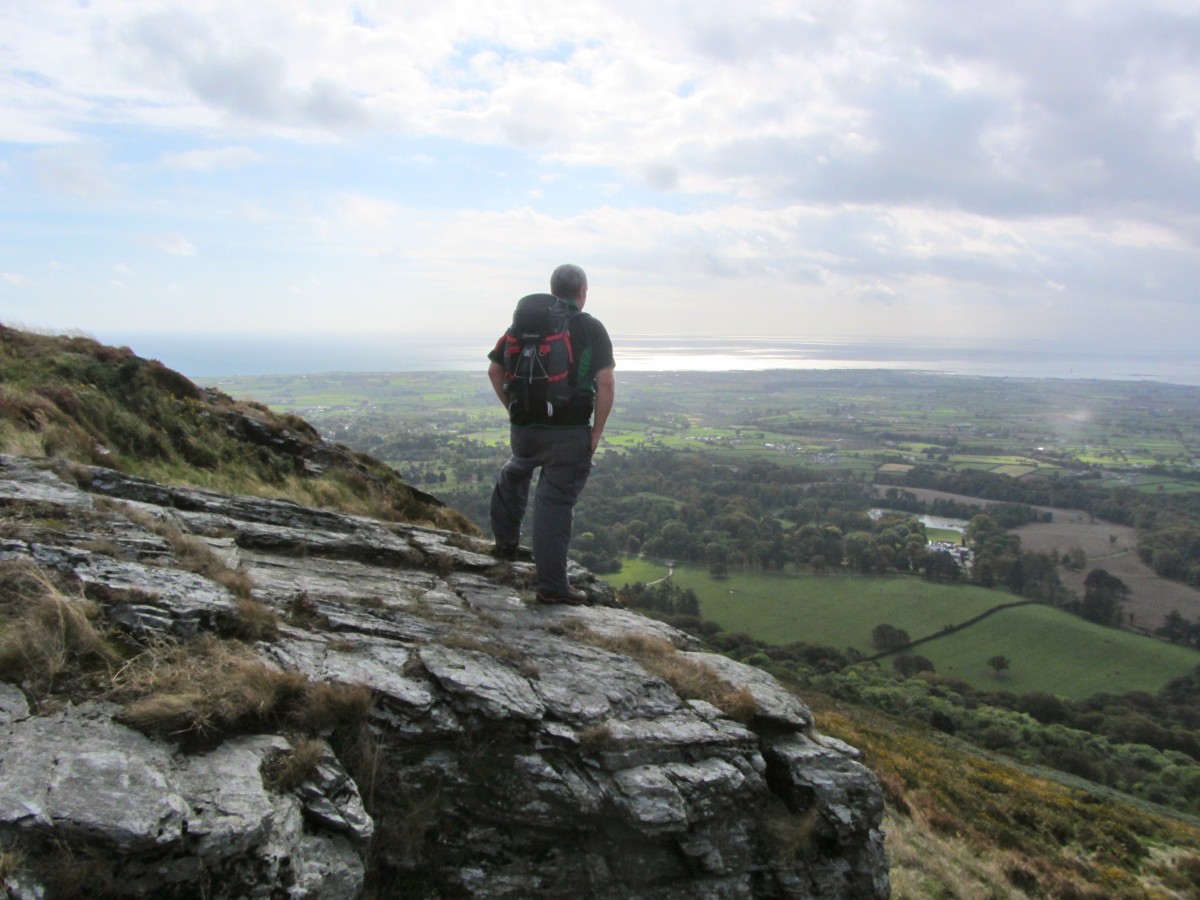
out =
[(805, 700), (821, 730), (863, 750), (880, 778), (898, 900), (1195, 895), (1195, 824), (1026, 774), (858, 704), (811, 690)]

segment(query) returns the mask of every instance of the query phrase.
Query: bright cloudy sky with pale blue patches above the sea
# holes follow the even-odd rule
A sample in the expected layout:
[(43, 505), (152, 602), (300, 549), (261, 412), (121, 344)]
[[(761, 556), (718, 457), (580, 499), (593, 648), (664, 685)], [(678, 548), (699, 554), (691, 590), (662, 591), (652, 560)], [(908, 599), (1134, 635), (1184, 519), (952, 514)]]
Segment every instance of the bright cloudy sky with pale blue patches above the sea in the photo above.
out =
[(10, 325), (493, 335), (572, 262), (614, 336), (1152, 352), (1198, 247), (1194, 0), (0, 0)]

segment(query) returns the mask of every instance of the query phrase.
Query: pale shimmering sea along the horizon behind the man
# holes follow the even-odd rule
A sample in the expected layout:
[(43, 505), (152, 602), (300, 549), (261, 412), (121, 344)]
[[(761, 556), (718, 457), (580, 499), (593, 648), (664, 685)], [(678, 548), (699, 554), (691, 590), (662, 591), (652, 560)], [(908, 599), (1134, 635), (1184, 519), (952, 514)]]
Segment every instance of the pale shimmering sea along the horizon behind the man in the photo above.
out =
[[(193, 380), (329, 372), (479, 371), (494, 336), (203, 335), (107, 332)], [(901, 370), (960, 376), (1147, 380), (1200, 386), (1188, 347), (1099, 347), (1086, 342), (920, 342), (895, 338), (661, 337), (614, 335), (617, 368), (641, 372)]]

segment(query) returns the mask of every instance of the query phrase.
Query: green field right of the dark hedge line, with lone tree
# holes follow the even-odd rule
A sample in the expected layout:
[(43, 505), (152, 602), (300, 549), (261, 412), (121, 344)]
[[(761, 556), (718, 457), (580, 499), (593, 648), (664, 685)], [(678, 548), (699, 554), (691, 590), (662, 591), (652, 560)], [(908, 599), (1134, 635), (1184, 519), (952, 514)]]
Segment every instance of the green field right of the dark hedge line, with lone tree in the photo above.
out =
[[(1128, 631), (1102, 628), (1046, 606), (1004, 610), (966, 631), (916, 649), (941, 674), (983, 690), (1043, 691), (1084, 698), (1093, 694), (1154, 692), (1200, 665), (1200, 653)], [(996, 678), (992, 656), (1009, 671)]]

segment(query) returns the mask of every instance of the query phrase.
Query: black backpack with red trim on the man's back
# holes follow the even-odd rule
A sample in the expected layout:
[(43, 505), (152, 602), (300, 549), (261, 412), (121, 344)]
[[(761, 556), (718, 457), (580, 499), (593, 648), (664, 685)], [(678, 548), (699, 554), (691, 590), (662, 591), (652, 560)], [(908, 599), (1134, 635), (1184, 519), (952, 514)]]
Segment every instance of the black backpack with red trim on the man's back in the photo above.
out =
[(517, 425), (553, 422), (575, 396), (571, 319), (578, 311), (552, 294), (521, 298), (500, 338), (504, 396)]

